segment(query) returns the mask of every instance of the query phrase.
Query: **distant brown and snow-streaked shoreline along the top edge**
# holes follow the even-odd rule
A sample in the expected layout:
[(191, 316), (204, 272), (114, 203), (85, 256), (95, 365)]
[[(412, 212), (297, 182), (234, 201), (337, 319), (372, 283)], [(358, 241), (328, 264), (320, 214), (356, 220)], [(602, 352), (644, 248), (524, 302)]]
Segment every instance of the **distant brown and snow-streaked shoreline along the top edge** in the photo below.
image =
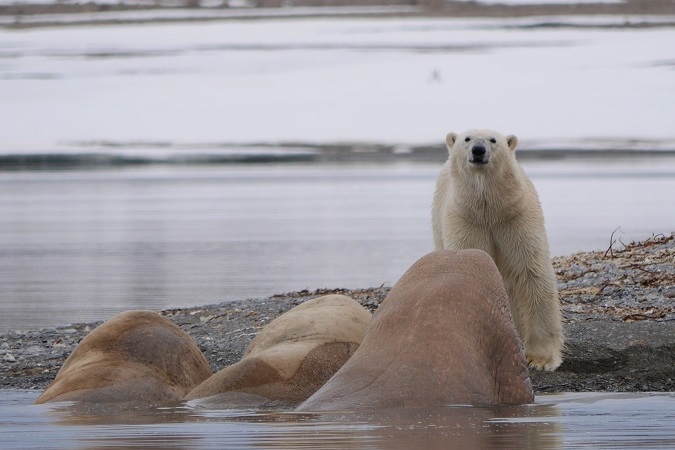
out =
[[(321, 2), (296, 1), (292, 7), (200, 6), (200, 1), (177, 0), (145, 4), (124, 2), (0, 4), (0, 27), (35, 28), (94, 24), (174, 23), (223, 20), (260, 20), (330, 17), (451, 17), (451, 18), (532, 18), (560, 16), (614, 16), (608, 23), (575, 24), (575, 27), (654, 27), (675, 26), (675, 2), (668, 0), (626, 0), (617, 3), (522, 4), (508, 5), (472, 1), (419, 1), (382, 5), (377, 2), (340, 2), (316, 6)], [(638, 18), (631, 20), (630, 17)], [(656, 19), (656, 20), (655, 20)], [(559, 26), (544, 22), (538, 26)]]

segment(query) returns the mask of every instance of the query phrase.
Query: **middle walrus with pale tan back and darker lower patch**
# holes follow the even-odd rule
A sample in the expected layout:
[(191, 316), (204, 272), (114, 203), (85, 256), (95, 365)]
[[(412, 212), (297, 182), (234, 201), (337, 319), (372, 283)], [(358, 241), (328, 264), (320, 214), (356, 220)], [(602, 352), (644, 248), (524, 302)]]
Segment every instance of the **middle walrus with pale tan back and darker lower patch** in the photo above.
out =
[(267, 324), (242, 359), (184, 400), (228, 407), (296, 406), (316, 392), (361, 344), (371, 314), (356, 300), (308, 300)]

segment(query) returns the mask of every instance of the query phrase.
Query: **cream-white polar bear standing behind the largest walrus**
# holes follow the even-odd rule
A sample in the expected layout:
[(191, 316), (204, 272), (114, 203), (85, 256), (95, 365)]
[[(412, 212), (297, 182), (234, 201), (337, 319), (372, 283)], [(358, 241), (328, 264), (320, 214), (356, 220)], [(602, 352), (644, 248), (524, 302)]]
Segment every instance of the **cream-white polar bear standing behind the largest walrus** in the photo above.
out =
[(531, 368), (555, 370), (564, 338), (555, 272), (534, 185), (516, 136), (469, 130), (446, 137), (431, 221), (437, 250), (487, 252), (502, 275)]

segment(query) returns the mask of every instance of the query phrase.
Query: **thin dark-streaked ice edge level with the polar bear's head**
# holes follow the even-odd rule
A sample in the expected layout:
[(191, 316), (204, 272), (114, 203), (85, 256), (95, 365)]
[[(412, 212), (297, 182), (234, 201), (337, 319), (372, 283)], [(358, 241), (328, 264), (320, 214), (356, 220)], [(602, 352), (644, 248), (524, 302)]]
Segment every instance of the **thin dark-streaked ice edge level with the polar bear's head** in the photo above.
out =
[[(598, 145), (589, 147), (529, 147), (518, 150), (521, 161), (604, 160), (628, 158), (675, 158), (675, 148), (658, 145)], [(307, 163), (434, 163), (447, 159), (444, 145), (334, 144), (212, 144), (172, 145), (129, 143), (71, 147), (62, 151), (0, 152), (0, 172), (17, 170), (65, 170), (127, 166), (195, 166), (228, 164)]]

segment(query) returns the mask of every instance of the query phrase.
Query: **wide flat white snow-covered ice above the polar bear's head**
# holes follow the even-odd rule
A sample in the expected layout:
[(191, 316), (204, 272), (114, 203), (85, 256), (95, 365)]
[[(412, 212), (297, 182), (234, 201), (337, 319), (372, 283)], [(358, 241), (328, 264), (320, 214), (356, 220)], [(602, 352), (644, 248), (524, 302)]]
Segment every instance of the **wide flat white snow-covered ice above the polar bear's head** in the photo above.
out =
[[(474, 127), (524, 145), (672, 148), (675, 29), (565, 26), (667, 19), (0, 29), (0, 152), (85, 141), (439, 143)], [(552, 21), (561, 26), (532, 27)]]

